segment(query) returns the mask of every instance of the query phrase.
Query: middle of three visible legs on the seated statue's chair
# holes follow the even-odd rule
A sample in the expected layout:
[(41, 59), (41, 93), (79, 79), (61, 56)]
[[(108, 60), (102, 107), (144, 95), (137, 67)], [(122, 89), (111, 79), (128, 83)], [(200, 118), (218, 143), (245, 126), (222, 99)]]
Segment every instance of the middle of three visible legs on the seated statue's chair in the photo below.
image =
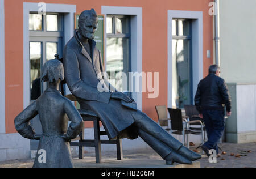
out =
[(95, 143), (95, 157), (96, 163), (101, 163), (101, 137), (100, 137), (100, 123), (99, 120), (96, 119), (93, 121), (94, 126), (94, 143)]

